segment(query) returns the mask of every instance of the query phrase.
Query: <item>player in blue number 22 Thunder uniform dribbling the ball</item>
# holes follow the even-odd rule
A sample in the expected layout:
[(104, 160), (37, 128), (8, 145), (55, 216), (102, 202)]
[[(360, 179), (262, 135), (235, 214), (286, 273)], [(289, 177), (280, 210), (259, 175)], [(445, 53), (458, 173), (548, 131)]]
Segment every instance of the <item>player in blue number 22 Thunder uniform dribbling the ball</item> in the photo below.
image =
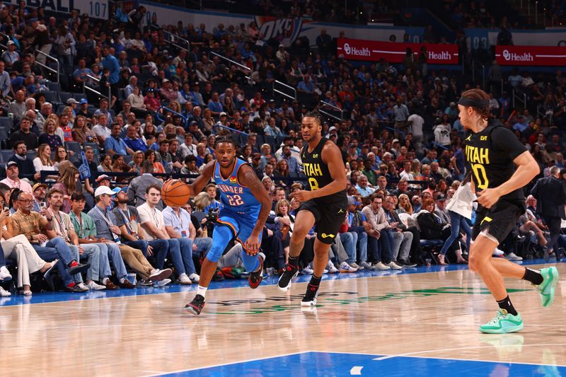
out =
[(185, 306), (185, 311), (195, 315), (202, 311), (218, 260), (234, 238), (243, 245), (242, 261), (246, 271), (250, 272), (250, 288), (260, 285), (265, 256), (258, 252), (263, 226), (271, 209), (271, 198), (253, 168), (236, 158), (236, 143), (230, 135), (217, 137), (214, 148), (216, 160), (207, 163), (199, 178), (189, 185), (190, 195), (195, 197), (214, 176), (221, 192), (212, 249), (202, 262), (197, 295)]

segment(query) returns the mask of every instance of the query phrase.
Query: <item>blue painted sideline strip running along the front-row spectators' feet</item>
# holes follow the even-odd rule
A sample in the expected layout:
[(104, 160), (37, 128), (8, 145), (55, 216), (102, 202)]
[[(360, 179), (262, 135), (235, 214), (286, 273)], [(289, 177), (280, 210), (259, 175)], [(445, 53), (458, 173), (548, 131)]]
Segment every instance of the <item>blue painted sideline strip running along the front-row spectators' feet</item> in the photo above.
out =
[[(544, 260), (529, 260), (522, 262), (522, 265), (535, 265), (544, 264)], [(327, 280), (335, 279), (359, 279), (364, 277), (387, 277), (393, 274), (423, 274), (423, 273), (434, 273), (442, 271), (456, 271), (459, 269), (468, 269), (468, 265), (448, 265), (448, 266), (437, 266), (433, 265), (431, 267), (416, 267), (416, 268), (404, 268), (400, 270), (390, 270), (390, 271), (359, 271), (350, 274), (325, 274), (323, 276), (323, 282)], [(263, 279), (262, 285), (277, 284), (278, 277), (265, 277)], [(310, 275), (299, 275), (299, 277), (294, 280), (297, 283), (309, 282), (311, 279)], [(236, 279), (229, 280), (226, 279), (223, 282), (212, 282), (209, 289), (224, 289), (224, 288), (238, 288), (248, 286), (248, 279)], [(6, 289), (8, 289), (5, 286)], [(59, 301), (81, 301), (81, 300), (91, 300), (97, 298), (112, 298), (112, 297), (128, 297), (128, 296), (142, 296), (146, 294), (163, 294), (163, 293), (177, 293), (177, 292), (189, 292), (196, 291), (197, 284), (192, 284), (190, 286), (182, 286), (179, 284), (171, 284), (163, 288), (137, 288), (137, 289), (119, 289), (117, 291), (89, 291), (86, 294), (71, 294), (64, 292), (38, 292), (34, 293), (33, 296), (21, 296), (17, 294), (12, 294), (11, 297), (0, 298), (1, 306), (11, 306), (11, 305), (23, 305), (30, 303), (53, 303)]]

